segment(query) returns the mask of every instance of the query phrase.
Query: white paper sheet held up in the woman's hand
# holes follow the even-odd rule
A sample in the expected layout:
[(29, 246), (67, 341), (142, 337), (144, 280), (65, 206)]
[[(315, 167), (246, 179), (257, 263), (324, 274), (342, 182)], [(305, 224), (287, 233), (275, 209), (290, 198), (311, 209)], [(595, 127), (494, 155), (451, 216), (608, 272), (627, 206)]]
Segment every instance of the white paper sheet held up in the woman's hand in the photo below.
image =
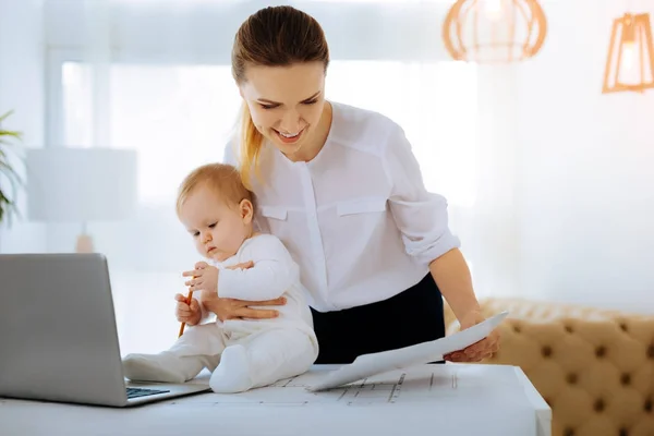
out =
[(396, 368), (441, 361), (445, 354), (462, 350), (487, 337), (508, 314), (506, 311), (501, 312), (473, 327), (435, 341), (360, 355), (351, 364), (343, 365), (339, 370), (326, 374), (308, 389), (312, 391), (330, 389)]

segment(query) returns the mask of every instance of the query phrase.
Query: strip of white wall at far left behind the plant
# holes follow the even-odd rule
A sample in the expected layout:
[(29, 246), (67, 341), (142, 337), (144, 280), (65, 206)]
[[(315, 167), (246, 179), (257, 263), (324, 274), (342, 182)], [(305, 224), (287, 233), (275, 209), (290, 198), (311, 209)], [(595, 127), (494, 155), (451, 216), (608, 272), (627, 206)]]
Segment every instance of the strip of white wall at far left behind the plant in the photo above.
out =
[[(0, 112), (14, 110), (4, 128), (23, 132), (23, 144), (44, 144), (44, 43), (43, 0), (0, 0)], [(22, 219), (10, 229), (0, 227), (0, 252), (40, 252), (45, 230), (27, 222), (25, 195)]]

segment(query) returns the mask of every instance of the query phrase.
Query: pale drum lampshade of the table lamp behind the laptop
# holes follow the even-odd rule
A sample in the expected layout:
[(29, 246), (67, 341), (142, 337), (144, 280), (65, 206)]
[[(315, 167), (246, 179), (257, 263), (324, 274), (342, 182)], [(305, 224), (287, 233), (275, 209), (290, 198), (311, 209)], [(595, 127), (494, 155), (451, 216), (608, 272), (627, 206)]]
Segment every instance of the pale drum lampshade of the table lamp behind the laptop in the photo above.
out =
[(38, 148), (27, 152), (25, 164), (31, 220), (111, 221), (135, 208), (135, 150)]

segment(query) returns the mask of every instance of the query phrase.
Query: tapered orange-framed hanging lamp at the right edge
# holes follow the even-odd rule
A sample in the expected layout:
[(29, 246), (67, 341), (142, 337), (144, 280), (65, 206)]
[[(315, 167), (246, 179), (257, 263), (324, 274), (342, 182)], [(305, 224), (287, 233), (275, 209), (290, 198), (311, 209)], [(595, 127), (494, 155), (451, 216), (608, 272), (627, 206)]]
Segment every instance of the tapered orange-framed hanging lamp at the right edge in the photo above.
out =
[(654, 43), (650, 14), (614, 20), (604, 70), (603, 94), (654, 88)]

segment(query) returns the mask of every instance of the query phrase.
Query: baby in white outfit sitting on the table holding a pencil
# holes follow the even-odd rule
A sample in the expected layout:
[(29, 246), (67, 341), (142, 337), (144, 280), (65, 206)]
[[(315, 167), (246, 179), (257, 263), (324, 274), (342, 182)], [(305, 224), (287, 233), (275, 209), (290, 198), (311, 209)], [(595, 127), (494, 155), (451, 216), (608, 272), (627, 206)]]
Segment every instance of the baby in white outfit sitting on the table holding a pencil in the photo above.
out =
[[(177, 213), (208, 261), (184, 272), (193, 276), (186, 283), (195, 301), (178, 303), (177, 315), (187, 328), (168, 351), (126, 355), (125, 376), (184, 383), (206, 367), (211, 389), (227, 393), (306, 372), (318, 355), (318, 343), (299, 267), (279, 239), (253, 231), (253, 196), (237, 169), (211, 164), (194, 170), (180, 186)], [(235, 267), (250, 261), (251, 268)], [(286, 298), (287, 303), (275, 307), (279, 316), (270, 319), (207, 322), (197, 294), (216, 298), (216, 292), (254, 302)]]

